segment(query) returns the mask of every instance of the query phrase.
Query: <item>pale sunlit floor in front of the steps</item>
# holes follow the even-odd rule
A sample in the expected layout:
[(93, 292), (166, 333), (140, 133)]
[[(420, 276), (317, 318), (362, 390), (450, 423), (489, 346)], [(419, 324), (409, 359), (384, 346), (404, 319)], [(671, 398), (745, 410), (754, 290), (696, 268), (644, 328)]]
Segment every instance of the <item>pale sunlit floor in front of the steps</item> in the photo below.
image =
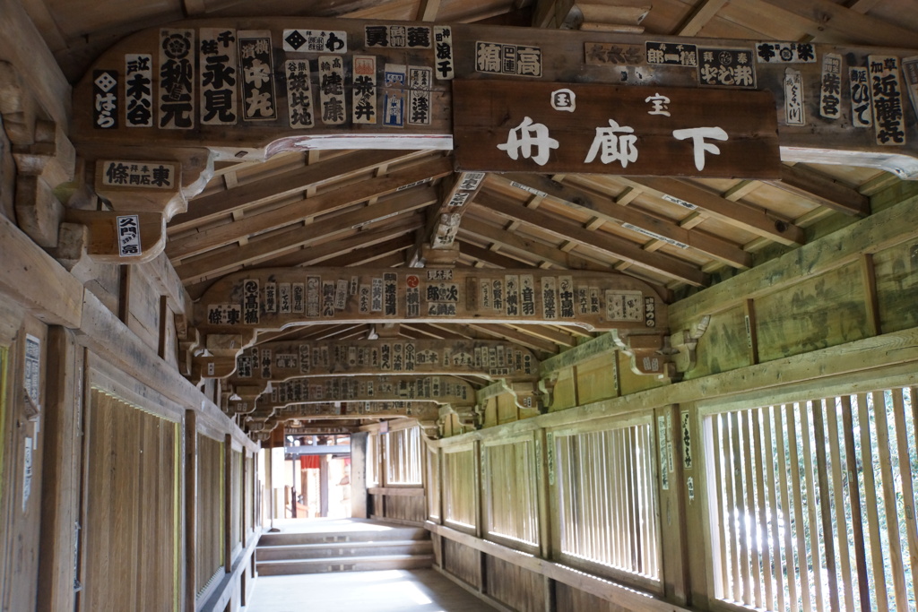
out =
[(245, 612), (493, 612), (434, 570), (259, 576)]

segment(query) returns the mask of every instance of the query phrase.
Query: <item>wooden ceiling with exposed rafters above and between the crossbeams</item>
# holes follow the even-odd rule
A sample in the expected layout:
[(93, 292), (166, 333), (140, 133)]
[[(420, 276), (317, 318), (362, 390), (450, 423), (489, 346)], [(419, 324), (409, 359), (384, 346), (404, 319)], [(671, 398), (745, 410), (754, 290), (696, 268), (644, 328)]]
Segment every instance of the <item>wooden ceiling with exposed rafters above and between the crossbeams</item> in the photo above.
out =
[[(73, 83), (118, 39), (185, 17), (487, 22), (918, 47), (914, 0), (656, 0), (652, 6), (647, 0), (24, 0), (23, 5)], [(251, 267), (406, 266), (417, 259), (429, 235), (425, 228), (454, 180), (453, 160), (443, 151), (310, 150), (265, 162), (219, 162), (188, 212), (170, 222), (166, 253), (193, 298), (222, 275)], [(489, 174), (462, 218), (456, 265), (617, 271), (677, 299), (805, 243), (823, 221), (841, 224), (868, 215), (869, 196), (897, 180), (872, 169), (804, 164), (784, 164), (781, 179), (767, 182)], [(415, 186), (400, 189), (409, 184)], [(371, 328), (317, 324), (260, 341), (364, 339)], [(397, 335), (507, 339), (540, 357), (590, 336), (570, 327), (446, 323), (402, 324)]]

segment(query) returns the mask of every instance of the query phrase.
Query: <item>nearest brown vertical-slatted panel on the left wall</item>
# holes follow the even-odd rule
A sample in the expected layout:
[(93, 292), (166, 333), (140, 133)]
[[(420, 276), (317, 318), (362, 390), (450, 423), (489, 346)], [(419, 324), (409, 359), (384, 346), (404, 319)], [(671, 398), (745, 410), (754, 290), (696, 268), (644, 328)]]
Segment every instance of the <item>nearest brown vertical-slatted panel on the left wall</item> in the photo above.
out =
[(178, 425), (91, 392), (78, 609), (175, 609)]

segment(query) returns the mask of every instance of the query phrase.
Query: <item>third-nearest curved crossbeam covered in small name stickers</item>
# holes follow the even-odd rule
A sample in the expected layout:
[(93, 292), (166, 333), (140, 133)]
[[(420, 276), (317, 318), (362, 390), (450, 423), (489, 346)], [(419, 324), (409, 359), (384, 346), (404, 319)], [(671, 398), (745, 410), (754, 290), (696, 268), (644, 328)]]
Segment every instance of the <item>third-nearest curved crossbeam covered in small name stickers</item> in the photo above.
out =
[(497, 340), (275, 341), (242, 351), (229, 383), (397, 373), (469, 374), (522, 381), (538, 378), (539, 362), (529, 349)]

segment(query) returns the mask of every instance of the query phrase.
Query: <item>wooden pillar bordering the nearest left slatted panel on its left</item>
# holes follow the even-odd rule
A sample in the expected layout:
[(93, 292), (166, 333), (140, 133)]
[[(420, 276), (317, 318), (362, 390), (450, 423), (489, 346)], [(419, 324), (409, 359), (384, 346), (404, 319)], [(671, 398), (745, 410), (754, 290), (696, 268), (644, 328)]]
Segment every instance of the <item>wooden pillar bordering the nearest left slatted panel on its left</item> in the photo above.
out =
[(39, 612), (72, 610), (76, 567), (76, 522), (80, 502), (80, 428), (83, 417), (83, 355), (65, 328), (48, 332), (46, 443), (42, 479)]

